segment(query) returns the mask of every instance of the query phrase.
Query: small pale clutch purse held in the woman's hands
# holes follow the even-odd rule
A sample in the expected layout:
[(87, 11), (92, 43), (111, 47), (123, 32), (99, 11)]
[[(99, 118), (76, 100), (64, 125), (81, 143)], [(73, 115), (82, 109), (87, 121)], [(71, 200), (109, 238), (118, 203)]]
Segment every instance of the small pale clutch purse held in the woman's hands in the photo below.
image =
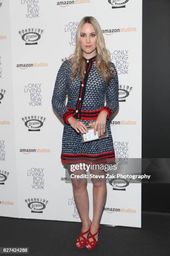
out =
[(107, 138), (109, 136), (106, 125), (105, 125), (105, 133), (100, 136), (98, 136), (97, 129), (96, 129), (96, 135), (94, 133), (95, 122), (89, 123), (89, 125), (86, 125), (86, 126), (88, 129), (88, 133), (83, 133), (83, 134), (81, 133), (82, 142), (95, 141), (100, 138)]

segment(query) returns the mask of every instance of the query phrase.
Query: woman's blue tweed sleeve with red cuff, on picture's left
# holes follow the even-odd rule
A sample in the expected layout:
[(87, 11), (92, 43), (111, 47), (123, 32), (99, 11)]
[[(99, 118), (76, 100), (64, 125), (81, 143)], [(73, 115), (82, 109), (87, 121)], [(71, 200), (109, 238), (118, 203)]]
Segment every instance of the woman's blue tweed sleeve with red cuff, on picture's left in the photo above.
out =
[(64, 105), (65, 96), (67, 94), (67, 69), (68, 67), (66, 61), (63, 61), (57, 73), (51, 102), (52, 108), (54, 108), (54, 110), (64, 120), (65, 123), (69, 124), (68, 118), (73, 116), (73, 114)]

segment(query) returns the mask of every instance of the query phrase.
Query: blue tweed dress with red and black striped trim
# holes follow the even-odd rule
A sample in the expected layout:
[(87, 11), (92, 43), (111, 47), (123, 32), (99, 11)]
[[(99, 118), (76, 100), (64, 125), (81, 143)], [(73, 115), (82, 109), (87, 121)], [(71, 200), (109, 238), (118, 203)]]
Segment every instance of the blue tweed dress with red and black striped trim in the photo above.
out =
[[(102, 75), (95, 67), (95, 57), (85, 59), (85, 77), (78, 78), (78, 71), (70, 84), (70, 72), (72, 62), (65, 60), (58, 70), (52, 95), (52, 107), (64, 120), (62, 133), (61, 161), (66, 164), (76, 163), (109, 163), (115, 160), (115, 150), (113, 146), (112, 134), (110, 130), (110, 115), (118, 108), (118, 77), (115, 65), (116, 76), (110, 79), (107, 86)], [(67, 95), (67, 105), (64, 105)], [(104, 106), (104, 97), (106, 105)], [(82, 142), (81, 133), (77, 133), (68, 123), (68, 118), (74, 118), (89, 125), (96, 120), (97, 115), (102, 111), (107, 111), (107, 131), (108, 137), (94, 141)]]

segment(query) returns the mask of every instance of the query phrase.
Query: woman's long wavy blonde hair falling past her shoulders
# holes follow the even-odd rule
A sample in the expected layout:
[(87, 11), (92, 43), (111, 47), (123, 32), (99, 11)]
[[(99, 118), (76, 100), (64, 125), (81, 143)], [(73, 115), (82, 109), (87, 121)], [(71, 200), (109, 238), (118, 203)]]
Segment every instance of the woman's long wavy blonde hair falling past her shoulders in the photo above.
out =
[(80, 31), (85, 23), (91, 23), (95, 29), (97, 35), (97, 54), (96, 54), (96, 67), (99, 70), (100, 74), (102, 74), (107, 85), (110, 82), (111, 77), (115, 77), (115, 69), (110, 66), (110, 52), (107, 50), (105, 46), (105, 39), (102, 35), (102, 30), (98, 21), (92, 16), (85, 16), (80, 20), (80, 23), (77, 26), (77, 31), (75, 35), (75, 52), (69, 56), (69, 60), (72, 62), (71, 68), (71, 78), (70, 83), (76, 76), (77, 70), (79, 71), (79, 79), (84, 79), (84, 71), (85, 71), (85, 61), (82, 56), (82, 48), (80, 46)]

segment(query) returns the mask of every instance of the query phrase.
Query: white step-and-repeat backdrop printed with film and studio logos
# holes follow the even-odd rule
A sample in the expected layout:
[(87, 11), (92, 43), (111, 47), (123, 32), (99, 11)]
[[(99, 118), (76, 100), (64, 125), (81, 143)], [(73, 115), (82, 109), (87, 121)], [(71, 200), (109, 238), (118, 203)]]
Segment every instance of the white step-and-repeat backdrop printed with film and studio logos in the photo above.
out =
[[(118, 73), (119, 111), (110, 119), (116, 158), (141, 158), (142, 0), (0, 0), (1, 216), (81, 221), (51, 98), (84, 16), (100, 23)], [(101, 224), (141, 227), (141, 184), (121, 181), (107, 183)], [(87, 189), (92, 218), (91, 183)]]

